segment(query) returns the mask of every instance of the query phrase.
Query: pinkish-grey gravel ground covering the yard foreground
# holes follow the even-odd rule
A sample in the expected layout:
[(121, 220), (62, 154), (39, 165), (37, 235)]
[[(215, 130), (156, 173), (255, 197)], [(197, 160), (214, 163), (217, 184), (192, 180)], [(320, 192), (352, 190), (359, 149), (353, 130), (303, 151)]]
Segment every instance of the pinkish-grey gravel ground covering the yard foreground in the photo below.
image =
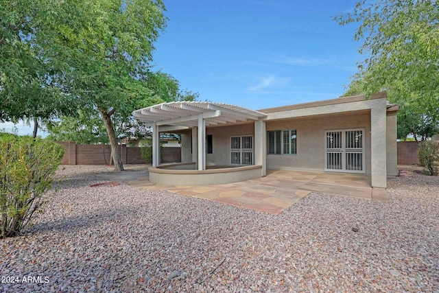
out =
[(0, 292), (439, 292), (438, 177), (389, 180), (390, 202), (310, 194), (272, 215), (88, 186), (105, 171), (60, 167), (45, 213), (0, 239)]

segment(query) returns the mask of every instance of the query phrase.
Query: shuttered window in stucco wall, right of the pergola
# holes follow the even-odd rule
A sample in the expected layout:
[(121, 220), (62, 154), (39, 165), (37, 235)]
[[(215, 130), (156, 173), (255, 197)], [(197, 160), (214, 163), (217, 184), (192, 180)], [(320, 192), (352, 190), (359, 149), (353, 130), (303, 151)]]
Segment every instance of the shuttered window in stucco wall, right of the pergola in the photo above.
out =
[(297, 154), (297, 131), (269, 131), (268, 154)]

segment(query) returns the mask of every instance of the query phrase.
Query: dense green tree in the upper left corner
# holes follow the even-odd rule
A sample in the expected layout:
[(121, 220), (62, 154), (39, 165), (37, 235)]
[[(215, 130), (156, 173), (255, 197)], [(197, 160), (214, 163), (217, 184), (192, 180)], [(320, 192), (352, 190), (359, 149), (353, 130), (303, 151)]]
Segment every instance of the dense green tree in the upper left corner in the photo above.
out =
[(75, 108), (49, 77), (36, 38), (49, 13), (46, 0), (0, 0), (0, 121), (38, 121), (70, 114)]

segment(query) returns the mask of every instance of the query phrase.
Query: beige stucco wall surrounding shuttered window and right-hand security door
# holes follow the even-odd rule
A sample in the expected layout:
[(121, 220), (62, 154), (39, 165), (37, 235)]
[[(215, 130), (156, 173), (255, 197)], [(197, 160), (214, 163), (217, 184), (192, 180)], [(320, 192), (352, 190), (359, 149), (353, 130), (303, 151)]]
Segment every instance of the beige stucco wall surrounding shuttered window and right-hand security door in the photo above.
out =
[(297, 154), (267, 155), (268, 169), (324, 171), (325, 130), (364, 128), (366, 134), (366, 174), (370, 174), (370, 112), (322, 115), (266, 121), (266, 130), (297, 130)]

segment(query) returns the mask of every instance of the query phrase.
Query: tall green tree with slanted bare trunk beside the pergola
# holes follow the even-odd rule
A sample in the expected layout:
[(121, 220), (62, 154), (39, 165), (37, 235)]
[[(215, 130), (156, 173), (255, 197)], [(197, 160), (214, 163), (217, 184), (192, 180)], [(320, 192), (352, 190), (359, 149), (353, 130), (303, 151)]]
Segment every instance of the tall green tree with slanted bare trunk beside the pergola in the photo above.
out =
[(38, 44), (62, 74), (52, 78), (104, 121), (117, 171), (123, 170), (112, 117), (151, 102), (145, 80), (154, 42), (166, 23), (161, 0), (51, 1)]

